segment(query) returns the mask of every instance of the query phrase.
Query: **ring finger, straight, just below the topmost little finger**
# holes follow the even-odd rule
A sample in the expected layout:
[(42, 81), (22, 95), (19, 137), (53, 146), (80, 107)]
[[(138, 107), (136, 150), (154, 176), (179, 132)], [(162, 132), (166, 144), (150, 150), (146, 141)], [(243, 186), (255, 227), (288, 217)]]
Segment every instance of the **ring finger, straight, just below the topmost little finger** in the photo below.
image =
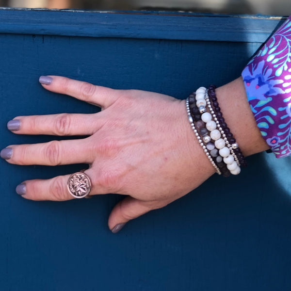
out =
[(101, 127), (100, 120), (96, 113), (18, 116), (7, 128), (17, 134), (92, 135)]

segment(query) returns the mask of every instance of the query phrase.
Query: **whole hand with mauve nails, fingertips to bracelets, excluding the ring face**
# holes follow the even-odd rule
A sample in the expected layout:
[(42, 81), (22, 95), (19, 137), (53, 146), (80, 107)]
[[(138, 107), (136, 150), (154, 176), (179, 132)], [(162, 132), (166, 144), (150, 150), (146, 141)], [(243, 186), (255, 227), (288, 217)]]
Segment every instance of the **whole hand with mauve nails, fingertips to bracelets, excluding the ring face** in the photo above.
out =
[[(88, 163), (90, 195), (123, 194), (109, 217), (118, 231), (129, 220), (162, 208), (209, 178), (214, 168), (197, 143), (189, 124), (185, 101), (162, 94), (113, 90), (64, 77), (45, 77), (49, 91), (100, 106), (94, 114), (18, 116), (17, 134), (89, 135), (78, 140), (12, 145), (1, 152), (19, 165)], [(11, 122), (10, 122), (11, 124)], [(67, 192), (69, 175), (27, 180), (18, 194), (32, 200), (73, 199)]]

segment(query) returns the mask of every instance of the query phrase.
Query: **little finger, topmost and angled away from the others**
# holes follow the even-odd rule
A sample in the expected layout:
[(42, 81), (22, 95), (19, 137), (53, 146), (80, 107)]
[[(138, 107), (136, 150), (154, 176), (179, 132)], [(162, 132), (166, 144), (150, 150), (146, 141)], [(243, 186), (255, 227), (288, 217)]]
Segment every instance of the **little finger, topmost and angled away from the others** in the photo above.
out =
[(40, 83), (49, 91), (78, 98), (107, 108), (117, 99), (118, 90), (60, 76), (41, 76)]

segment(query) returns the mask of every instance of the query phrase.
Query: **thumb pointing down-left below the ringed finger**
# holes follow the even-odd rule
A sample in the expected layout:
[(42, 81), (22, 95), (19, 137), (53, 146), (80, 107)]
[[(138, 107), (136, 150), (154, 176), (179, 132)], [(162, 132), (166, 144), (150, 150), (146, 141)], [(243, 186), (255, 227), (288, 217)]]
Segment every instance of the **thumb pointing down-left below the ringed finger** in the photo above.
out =
[(108, 220), (108, 226), (113, 233), (121, 230), (129, 220), (137, 218), (152, 210), (149, 203), (130, 196), (115, 205)]

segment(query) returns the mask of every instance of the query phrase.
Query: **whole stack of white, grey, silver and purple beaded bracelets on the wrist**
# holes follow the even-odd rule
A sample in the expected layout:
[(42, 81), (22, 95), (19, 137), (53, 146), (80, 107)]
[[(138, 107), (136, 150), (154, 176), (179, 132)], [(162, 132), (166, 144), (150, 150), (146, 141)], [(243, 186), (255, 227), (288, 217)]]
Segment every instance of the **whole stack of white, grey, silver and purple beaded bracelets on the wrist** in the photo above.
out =
[[(239, 149), (239, 147), (227, 128), (213, 90), (215, 90), (214, 86), (210, 86), (209, 90), (200, 87), (189, 96), (186, 100), (189, 121), (200, 146), (204, 149), (216, 172), (224, 177), (228, 177), (230, 174), (238, 175), (241, 172), (240, 159), (244, 157), (241, 154), (239, 159), (236, 154), (238, 150), (235, 152), (235, 149)], [(211, 101), (217, 103), (213, 104), (213, 108), (208, 95), (209, 92)], [(210, 112), (207, 111), (207, 108)], [(228, 129), (228, 135), (224, 129), (226, 129), (226, 132)], [(227, 136), (230, 135), (231, 137), (228, 140)], [(230, 142), (232, 143), (230, 144)]]

